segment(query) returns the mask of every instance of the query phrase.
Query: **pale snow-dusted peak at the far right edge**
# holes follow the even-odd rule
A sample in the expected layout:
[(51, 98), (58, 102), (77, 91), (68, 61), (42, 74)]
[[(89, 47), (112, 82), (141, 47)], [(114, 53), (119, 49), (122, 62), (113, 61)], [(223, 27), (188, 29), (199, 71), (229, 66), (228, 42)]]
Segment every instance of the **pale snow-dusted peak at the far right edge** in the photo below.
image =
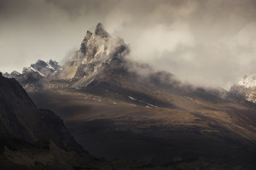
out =
[(256, 74), (242, 77), (230, 88), (230, 93), (256, 104)]

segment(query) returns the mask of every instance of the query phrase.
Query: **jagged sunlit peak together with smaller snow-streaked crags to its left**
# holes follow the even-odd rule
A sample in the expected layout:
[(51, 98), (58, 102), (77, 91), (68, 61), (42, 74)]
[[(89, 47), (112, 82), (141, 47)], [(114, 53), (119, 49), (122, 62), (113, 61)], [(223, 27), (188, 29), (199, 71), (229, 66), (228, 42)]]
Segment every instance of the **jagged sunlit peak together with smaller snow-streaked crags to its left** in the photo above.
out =
[(111, 37), (99, 23), (94, 33), (87, 31), (79, 50), (64, 65), (39, 59), (36, 64), (25, 67), (22, 74), (14, 71), (3, 76), (15, 77), (26, 89), (83, 88), (109, 65), (114, 66), (116, 59), (123, 62), (128, 53), (124, 40)]

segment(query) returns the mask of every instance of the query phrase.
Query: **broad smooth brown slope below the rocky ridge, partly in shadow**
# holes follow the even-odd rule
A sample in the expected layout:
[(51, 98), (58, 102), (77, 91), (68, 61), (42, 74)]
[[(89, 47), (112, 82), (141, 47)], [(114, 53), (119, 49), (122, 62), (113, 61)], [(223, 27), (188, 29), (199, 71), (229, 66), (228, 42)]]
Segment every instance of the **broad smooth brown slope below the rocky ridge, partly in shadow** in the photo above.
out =
[(134, 101), (138, 96), (105, 92), (68, 89), (30, 96), (40, 108), (63, 117), (74, 139), (92, 156), (158, 165), (203, 157), (233, 167), (253, 166), (253, 109), (198, 94), (188, 99), (166, 92), (161, 96), (172, 99), (172, 105), (155, 108)]

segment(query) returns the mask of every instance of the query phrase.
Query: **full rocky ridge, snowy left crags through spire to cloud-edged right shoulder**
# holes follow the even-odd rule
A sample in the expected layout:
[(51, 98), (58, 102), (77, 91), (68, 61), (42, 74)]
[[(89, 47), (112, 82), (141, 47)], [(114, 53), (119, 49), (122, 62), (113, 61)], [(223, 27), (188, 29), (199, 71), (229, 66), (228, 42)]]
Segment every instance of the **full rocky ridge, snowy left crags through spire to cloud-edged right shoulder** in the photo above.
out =
[[(113, 38), (102, 24), (96, 26), (94, 32), (87, 31), (80, 48), (72, 58), (67, 59), (64, 65), (49, 60), (38, 60), (36, 64), (24, 68), (22, 74), (11, 73), (20, 84), (28, 91), (37, 89), (60, 88), (124, 88), (124, 86), (172, 88), (173, 91), (203, 90), (206, 94), (230, 102), (256, 108), (256, 105), (245, 100), (243, 96), (225, 91), (224, 89), (205, 89), (192, 87), (179, 82), (171, 73), (165, 71), (152, 71), (150, 66), (137, 64), (125, 59), (130, 48), (120, 38)], [(139, 71), (147, 71), (147, 76), (142, 76)], [(131, 84), (132, 82), (132, 84)], [(93, 91), (93, 90), (92, 90)], [(247, 99), (247, 98), (246, 98)]]

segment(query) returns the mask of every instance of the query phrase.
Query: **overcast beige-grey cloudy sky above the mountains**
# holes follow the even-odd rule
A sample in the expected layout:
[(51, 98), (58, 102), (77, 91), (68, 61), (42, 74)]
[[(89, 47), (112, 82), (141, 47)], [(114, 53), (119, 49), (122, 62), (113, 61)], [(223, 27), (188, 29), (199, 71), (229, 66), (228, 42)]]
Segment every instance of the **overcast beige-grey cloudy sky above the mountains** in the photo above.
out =
[(255, 0), (0, 0), (0, 71), (63, 61), (98, 22), (183, 81), (228, 89), (256, 73)]

